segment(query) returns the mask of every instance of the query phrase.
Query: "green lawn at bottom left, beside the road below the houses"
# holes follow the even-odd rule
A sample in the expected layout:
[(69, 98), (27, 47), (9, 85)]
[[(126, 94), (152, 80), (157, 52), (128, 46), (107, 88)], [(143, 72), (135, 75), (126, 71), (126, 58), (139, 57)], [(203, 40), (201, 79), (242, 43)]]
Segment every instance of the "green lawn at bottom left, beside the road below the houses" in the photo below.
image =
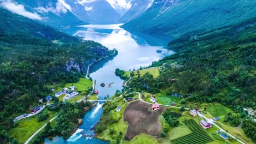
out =
[(49, 118), (46, 121), (38, 122), (37, 115), (24, 118), (16, 122), (18, 127), (9, 130), (9, 136), (18, 139), (18, 143), (25, 143), (31, 135), (56, 116), (56, 113), (49, 111), (47, 107), (43, 111), (49, 114)]

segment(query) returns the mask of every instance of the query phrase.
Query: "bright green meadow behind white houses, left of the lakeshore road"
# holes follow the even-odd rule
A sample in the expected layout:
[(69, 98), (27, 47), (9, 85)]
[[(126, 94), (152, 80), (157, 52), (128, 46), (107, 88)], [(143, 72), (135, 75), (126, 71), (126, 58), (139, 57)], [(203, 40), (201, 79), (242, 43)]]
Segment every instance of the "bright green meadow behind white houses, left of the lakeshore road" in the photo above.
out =
[(92, 81), (89, 79), (79, 78), (79, 81), (76, 83), (66, 83), (65, 87), (69, 88), (70, 86), (75, 86), (76, 91), (87, 91), (92, 87)]

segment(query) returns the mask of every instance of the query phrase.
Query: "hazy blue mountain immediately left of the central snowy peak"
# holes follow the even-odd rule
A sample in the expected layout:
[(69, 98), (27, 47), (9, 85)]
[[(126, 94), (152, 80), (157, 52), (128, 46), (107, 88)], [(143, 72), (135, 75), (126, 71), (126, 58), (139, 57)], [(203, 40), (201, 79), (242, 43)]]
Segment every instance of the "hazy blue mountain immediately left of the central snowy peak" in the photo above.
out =
[(93, 24), (117, 23), (120, 15), (106, 0), (83, 0), (84, 6)]

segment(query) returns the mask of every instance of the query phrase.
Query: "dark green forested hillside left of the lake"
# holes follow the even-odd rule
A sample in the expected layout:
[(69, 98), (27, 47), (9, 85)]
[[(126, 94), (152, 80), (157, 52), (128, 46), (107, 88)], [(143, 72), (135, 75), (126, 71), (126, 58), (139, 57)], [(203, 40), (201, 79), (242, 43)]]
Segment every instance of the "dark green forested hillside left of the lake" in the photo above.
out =
[(52, 85), (78, 81), (91, 62), (112, 51), (7, 10), (0, 9), (0, 17), (1, 143), (8, 142), (13, 117), (30, 112)]

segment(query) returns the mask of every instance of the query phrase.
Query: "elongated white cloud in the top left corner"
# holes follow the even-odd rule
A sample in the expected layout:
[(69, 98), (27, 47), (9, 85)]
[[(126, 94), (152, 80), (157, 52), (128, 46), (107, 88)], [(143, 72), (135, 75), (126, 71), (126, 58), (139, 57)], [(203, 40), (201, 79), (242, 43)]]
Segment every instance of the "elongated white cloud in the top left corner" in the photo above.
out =
[(24, 5), (18, 4), (13, 0), (0, 0), (0, 7), (3, 7), (12, 13), (16, 13), (25, 17), (28, 17), (33, 20), (42, 20), (43, 18), (40, 17), (37, 13), (31, 13), (24, 8)]

